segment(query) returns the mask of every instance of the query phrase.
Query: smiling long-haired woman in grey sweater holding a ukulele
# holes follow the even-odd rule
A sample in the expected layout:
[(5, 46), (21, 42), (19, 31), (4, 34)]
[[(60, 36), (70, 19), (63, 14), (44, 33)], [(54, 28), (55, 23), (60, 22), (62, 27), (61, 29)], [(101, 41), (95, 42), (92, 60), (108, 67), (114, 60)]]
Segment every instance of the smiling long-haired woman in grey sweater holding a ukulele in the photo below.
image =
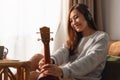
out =
[(53, 64), (40, 60), (41, 74), (70, 80), (100, 80), (106, 62), (108, 35), (97, 30), (84, 4), (70, 9), (67, 24), (66, 44), (51, 56)]

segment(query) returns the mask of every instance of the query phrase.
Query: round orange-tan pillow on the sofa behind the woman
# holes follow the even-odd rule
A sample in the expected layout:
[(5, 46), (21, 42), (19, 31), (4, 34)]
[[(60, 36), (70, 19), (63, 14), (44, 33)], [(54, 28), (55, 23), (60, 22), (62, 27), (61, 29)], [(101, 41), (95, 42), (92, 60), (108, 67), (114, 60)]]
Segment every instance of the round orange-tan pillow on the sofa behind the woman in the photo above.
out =
[(112, 56), (120, 56), (120, 41), (110, 43), (108, 54)]

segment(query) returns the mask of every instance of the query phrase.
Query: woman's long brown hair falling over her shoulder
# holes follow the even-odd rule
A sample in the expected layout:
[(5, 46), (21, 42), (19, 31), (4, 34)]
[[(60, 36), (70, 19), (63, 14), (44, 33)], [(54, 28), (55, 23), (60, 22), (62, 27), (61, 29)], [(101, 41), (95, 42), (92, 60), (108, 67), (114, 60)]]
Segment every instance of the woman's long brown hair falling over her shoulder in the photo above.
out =
[(88, 6), (86, 6), (85, 4), (77, 4), (77, 5), (72, 6), (71, 9), (69, 10), (68, 20), (67, 20), (67, 33), (68, 33), (67, 46), (69, 48), (70, 55), (75, 54), (76, 48), (77, 48), (77, 46), (79, 44), (79, 41), (83, 37), (81, 32), (76, 32), (71, 27), (70, 13), (74, 9), (79, 11), (81, 14), (83, 14), (83, 16), (85, 17), (85, 19), (87, 21), (88, 26), (91, 29), (97, 30), (95, 22), (94, 22), (94, 20), (92, 18), (92, 15), (91, 15), (90, 11), (88, 10)]

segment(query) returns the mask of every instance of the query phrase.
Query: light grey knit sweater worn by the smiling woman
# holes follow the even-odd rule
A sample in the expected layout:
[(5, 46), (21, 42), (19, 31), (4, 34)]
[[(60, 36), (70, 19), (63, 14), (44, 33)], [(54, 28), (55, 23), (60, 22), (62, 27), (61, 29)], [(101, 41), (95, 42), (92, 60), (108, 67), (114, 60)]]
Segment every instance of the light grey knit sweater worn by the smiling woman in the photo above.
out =
[(61, 66), (63, 77), (72, 80), (100, 80), (104, 69), (108, 35), (97, 31), (94, 34), (83, 37), (79, 43), (76, 55), (70, 56), (67, 47), (58, 49), (51, 58), (55, 64)]

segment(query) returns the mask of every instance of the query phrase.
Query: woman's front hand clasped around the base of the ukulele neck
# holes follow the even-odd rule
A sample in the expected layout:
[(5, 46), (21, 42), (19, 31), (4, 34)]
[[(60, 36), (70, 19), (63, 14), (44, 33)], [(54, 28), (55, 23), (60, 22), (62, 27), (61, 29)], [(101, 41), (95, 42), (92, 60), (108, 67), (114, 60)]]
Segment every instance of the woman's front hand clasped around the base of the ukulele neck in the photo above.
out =
[(52, 75), (60, 77), (62, 75), (62, 69), (55, 64), (45, 64), (41, 67), (41, 73), (46, 75)]

